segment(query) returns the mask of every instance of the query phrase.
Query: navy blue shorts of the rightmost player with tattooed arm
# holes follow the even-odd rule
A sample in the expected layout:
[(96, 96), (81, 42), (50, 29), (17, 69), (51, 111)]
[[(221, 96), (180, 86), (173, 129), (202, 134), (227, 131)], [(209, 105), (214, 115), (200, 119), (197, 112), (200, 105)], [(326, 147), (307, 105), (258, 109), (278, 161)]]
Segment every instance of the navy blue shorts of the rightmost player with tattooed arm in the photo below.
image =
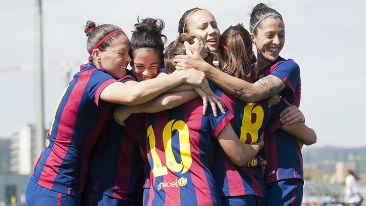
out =
[(285, 179), (266, 185), (267, 206), (301, 205), (303, 195), (303, 181), (301, 179)]

